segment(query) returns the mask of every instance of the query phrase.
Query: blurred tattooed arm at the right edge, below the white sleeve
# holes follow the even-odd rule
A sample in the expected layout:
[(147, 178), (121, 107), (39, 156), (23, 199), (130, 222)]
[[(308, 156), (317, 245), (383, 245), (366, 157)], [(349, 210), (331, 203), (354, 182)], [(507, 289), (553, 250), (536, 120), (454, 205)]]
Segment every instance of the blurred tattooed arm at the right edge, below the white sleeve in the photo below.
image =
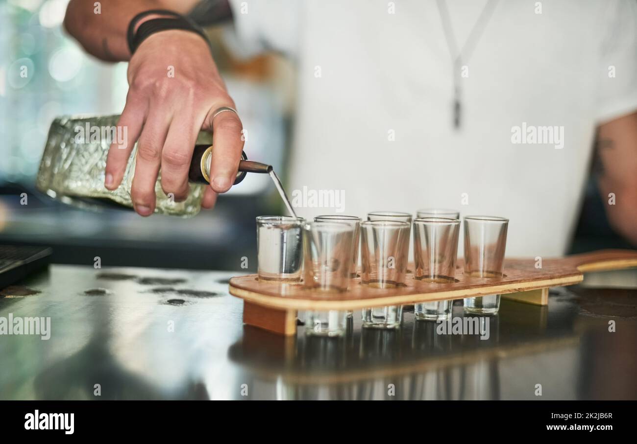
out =
[(599, 190), (615, 231), (637, 246), (637, 113), (599, 127)]

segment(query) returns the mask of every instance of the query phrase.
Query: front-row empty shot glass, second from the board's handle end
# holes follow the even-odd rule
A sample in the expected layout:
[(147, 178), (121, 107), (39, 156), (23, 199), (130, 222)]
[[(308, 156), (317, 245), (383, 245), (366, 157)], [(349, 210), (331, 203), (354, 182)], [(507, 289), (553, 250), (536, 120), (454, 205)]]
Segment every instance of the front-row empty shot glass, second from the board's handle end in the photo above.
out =
[[(458, 258), (459, 219), (418, 218), (413, 221), (414, 279), (424, 282), (454, 282)], [(424, 321), (447, 320), (453, 300), (414, 304), (414, 316)]]

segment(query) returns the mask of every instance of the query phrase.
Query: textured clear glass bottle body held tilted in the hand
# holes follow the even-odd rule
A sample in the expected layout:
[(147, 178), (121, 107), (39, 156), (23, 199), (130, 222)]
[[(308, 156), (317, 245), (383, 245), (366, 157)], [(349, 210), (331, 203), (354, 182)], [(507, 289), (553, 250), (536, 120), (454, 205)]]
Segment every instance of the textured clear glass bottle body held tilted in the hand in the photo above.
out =
[[(51, 124), (39, 165), (36, 181), (38, 190), (69, 204), (86, 205), (87, 202), (110, 199), (132, 208), (131, 184), (137, 144), (132, 149), (120, 186), (113, 191), (104, 187), (104, 169), (111, 139), (127, 135), (122, 128), (115, 127), (118, 119), (118, 115), (56, 118)], [(199, 133), (197, 144), (211, 143), (211, 134)], [(191, 182), (187, 199), (175, 202), (162, 190), (160, 172), (155, 184), (155, 213), (194, 216), (201, 209), (204, 187), (203, 184)]]

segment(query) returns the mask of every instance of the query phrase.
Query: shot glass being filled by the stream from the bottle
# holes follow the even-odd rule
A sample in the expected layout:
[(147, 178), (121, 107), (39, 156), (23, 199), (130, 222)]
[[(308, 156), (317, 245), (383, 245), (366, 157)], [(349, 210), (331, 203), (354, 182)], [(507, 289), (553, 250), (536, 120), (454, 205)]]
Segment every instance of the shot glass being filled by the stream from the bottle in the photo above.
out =
[(257, 218), (257, 267), (260, 281), (301, 281), (303, 219)]

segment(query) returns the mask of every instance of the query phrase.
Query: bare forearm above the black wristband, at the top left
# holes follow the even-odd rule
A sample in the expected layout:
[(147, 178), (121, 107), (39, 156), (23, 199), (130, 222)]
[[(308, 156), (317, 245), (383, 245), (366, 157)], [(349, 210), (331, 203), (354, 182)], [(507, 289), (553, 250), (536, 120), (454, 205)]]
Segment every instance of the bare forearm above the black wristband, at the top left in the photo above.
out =
[(71, 0), (64, 27), (90, 54), (118, 62), (131, 57), (126, 32), (135, 15), (156, 9), (185, 14), (196, 3), (197, 0), (110, 0), (101, 2), (101, 9), (96, 13), (93, 0)]

